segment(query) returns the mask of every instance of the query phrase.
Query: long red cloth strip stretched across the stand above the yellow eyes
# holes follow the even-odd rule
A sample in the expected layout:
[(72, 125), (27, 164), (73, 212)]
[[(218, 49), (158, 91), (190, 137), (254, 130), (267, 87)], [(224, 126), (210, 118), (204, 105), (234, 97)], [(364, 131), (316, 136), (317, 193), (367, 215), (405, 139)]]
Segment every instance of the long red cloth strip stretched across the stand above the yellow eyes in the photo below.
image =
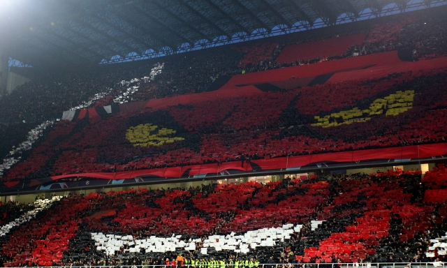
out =
[[(366, 68), (367, 66), (372, 66)], [(362, 68), (362, 70), (350, 70), (351, 68)], [(328, 82), (342, 82), (351, 80), (368, 80), (376, 77), (386, 76), (390, 73), (400, 73), (409, 70), (428, 70), (432, 68), (447, 67), (447, 58), (441, 57), (426, 61), (407, 62), (400, 61), (397, 57), (397, 51), (384, 52), (379, 54), (371, 54), (362, 57), (353, 57), (349, 59), (339, 59), (337, 61), (324, 61), (318, 64), (309, 64), (303, 66), (294, 66), (289, 68), (281, 68), (276, 70), (266, 70), (257, 73), (246, 73), (244, 75), (233, 76), (227, 84), (221, 89), (212, 92), (204, 92), (199, 94), (187, 94), (182, 96), (173, 96), (169, 98), (152, 99), (147, 103), (124, 103), (120, 105), (120, 109), (134, 110), (145, 107), (151, 107), (153, 110), (163, 109), (172, 105), (201, 103), (210, 100), (220, 100), (227, 98), (237, 98), (240, 96), (251, 96), (263, 94), (263, 92), (253, 85), (244, 87), (236, 87), (242, 84), (260, 84), (265, 82), (287, 82), (291, 77), (300, 79), (306, 77), (316, 77), (325, 73), (335, 73)], [(98, 117), (94, 108), (80, 110), (79, 119), (85, 117)]]

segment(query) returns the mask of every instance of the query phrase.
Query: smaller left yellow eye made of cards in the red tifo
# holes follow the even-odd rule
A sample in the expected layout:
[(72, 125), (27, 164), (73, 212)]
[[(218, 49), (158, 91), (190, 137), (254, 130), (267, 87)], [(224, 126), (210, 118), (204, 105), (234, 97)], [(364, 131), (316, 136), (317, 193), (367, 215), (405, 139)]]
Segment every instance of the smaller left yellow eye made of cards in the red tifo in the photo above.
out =
[(183, 137), (175, 137), (176, 132), (177, 131), (170, 128), (159, 128), (159, 126), (154, 126), (152, 124), (141, 124), (138, 126), (131, 126), (126, 131), (126, 139), (133, 143), (134, 147), (158, 147), (163, 144), (184, 140)]

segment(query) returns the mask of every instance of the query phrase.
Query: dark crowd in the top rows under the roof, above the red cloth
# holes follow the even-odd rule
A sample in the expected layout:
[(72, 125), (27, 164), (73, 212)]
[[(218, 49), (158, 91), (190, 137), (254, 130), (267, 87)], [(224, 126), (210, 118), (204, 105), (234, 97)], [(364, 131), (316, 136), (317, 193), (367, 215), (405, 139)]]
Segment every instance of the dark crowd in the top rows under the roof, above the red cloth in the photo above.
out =
[[(302, 61), (279, 64), (274, 61), (281, 47), (292, 43), (310, 42), (323, 37), (309, 40), (286, 41), (287, 44), (265, 43), (261, 41), (252, 46), (237, 45), (234, 48), (217, 47), (212, 50), (191, 52), (175, 55), (167, 59), (166, 68), (156, 78), (157, 89), (147, 94), (145, 98), (163, 98), (191, 92), (207, 91), (210, 84), (218, 77), (284, 68), (293, 65), (311, 64), (321, 60), (352, 57), (353, 52), (371, 54), (388, 50), (409, 47), (416, 50), (418, 57), (445, 53), (445, 16), (423, 17), (416, 22), (414, 19), (402, 22), (378, 24), (369, 32), (365, 44), (354, 45), (342, 55), (333, 55), (325, 59), (302, 59)], [(392, 27), (394, 24), (397, 26)], [(400, 29), (402, 28), (402, 31)], [(355, 32), (357, 33), (357, 32)], [(351, 31), (346, 34), (355, 34)], [(339, 36), (340, 34), (337, 34)], [(376, 36), (381, 36), (377, 38)], [(330, 36), (324, 36), (329, 38)], [(290, 39), (290, 38), (289, 38)], [(254, 50), (251, 48), (255, 47)], [(122, 80), (131, 80), (148, 75), (154, 62), (138, 64), (133, 68), (100, 68), (92, 72), (70, 75), (53, 74), (39, 75), (33, 82), (22, 85), (10, 96), (0, 100), (0, 121), (43, 121), (57, 119), (60, 113), (71, 107), (77, 107), (93, 98), (95, 94), (107, 92), (116, 96), (124, 88), (120, 87)], [(111, 89), (111, 91), (110, 91)], [(139, 101), (138, 98), (135, 101)], [(105, 103), (103, 103), (105, 104)], [(94, 104), (92, 104), (94, 105)]]

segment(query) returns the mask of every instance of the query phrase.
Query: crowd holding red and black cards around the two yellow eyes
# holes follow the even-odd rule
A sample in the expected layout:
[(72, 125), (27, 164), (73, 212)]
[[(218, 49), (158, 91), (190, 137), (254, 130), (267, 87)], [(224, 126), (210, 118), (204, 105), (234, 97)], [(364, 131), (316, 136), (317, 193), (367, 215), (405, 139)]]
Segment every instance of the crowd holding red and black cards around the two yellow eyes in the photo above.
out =
[[(249, 163), (257, 159), (444, 142), (446, 80), (445, 70), (395, 73), (376, 80), (313, 87), (321, 94), (304, 87), (233, 98), (229, 102), (122, 112), (105, 120), (61, 121), (25, 161), (6, 172), (3, 181), (206, 163), (221, 165), (230, 161)], [(397, 92), (409, 89), (412, 95), (407, 101), (396, 101)], [(388, 98), (404, 105), (405, 112), (391, 114), (400, 108), (374, 106)], [(300, 105), (303, 101), (315, 105)], [(331, 117), (344, 110), (356, 112), (356, 117)], [(319, 118), (330, 117), (332, 125), (316, 126), (316, 114)], [(356, 118), (366, 118), (368, 123), (342, 124)], [(341, 125), (335, 127), (335, 120)], [(137, 138), (127, 136), (129, 126), (149, 123), (172, 130), (166, 138), (177, 137), (177, 141), (144, 146), (135, 144)]]

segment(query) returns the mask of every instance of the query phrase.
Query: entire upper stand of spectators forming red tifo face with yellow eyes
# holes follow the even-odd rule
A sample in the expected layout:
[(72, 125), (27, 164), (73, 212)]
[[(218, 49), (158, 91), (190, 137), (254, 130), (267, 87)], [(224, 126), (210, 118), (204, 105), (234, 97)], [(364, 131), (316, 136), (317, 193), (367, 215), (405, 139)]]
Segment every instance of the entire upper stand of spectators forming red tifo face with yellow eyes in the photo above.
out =
[[(266, 170), (284, 168), (278, 165), (283, 157), (444, 142), (444, 20), (409, 16), (332, 39), (258, 41), (161, 64), (148, 61), (126, 72), (117, 68), (29, 82), (1, 98), (0, 117), (62, 120), (54, 126), (46, 121), (31, 131), (32, 139), (15, 144), (17, 133), (29, 128), (8, 125), (6, 133), (15, 135), (1, 140), (2, 187), (175, 167), (179, 170), (142, 175)], [(336, 47), (328, 47), (334, 42)], [(302, 49), (306, 46), (322, 54), (316, 57), (314, 50)], [(412, 61), (401, 59), (407, 50)], [(47, 91), (56, 92), (54, 98), (41, 99)], [(433, 151), (446, 153), (444, 147)], [(318, 156), (318, 161), (333, 158)], [(261, 160), (265, 163), (256, 163)], [(285, 168), (300, 167), (290, 163)]]

